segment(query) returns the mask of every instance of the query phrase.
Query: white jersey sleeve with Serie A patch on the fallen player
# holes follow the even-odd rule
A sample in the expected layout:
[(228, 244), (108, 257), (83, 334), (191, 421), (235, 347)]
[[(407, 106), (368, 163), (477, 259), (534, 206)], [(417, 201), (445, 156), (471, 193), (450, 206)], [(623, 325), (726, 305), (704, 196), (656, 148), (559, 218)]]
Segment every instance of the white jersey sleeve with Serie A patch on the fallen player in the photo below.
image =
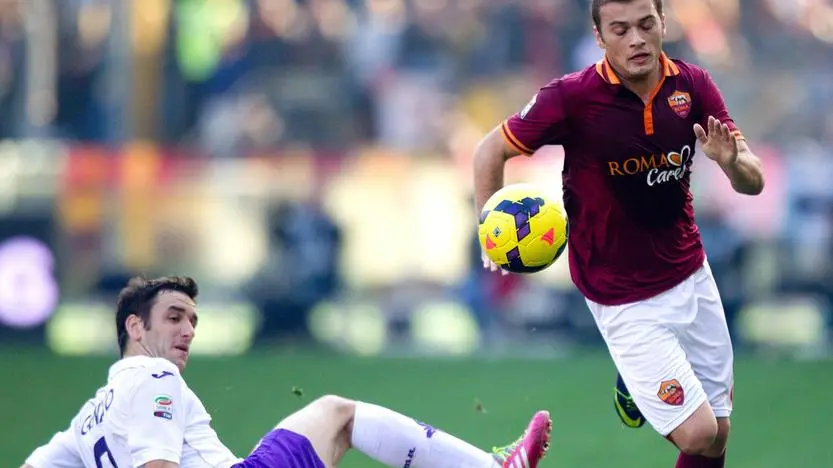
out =
[(133, 466), (154, 460), (179, 464), (187, 416), (182, 377), (176, 366), (162, 360), (141, 372), (128, 414), (132, 425), (127, 445)]

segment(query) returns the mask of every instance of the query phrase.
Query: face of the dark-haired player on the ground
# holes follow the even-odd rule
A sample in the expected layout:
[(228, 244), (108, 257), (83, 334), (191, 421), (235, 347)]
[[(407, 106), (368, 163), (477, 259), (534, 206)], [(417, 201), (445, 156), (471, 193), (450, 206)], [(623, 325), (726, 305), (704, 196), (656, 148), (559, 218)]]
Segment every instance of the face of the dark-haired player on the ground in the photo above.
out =
[(160, 291), (149, 319), (150, 328), (142, 327), (139, 344), (151, 356), (163, 357), (182, 371), (197, 326), (196, 304), (179, 291)]

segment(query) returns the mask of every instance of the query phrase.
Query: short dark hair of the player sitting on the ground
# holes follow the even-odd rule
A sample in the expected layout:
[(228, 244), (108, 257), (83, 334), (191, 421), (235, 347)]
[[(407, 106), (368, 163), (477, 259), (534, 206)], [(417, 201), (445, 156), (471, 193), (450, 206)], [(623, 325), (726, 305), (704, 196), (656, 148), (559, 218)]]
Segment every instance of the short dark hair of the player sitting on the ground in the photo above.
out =
[(199, 286), (188, 276), (163, 276), (150, 280), (138, 276), (131, 278), (119, 292), (116, 306), (116, 336), (122, 356), (127, 347), (127, 318), (138, 316), (145, 324), (145, 330), (150, 330), (150, 309), (162, 291), (178, 291), (196, 300)]

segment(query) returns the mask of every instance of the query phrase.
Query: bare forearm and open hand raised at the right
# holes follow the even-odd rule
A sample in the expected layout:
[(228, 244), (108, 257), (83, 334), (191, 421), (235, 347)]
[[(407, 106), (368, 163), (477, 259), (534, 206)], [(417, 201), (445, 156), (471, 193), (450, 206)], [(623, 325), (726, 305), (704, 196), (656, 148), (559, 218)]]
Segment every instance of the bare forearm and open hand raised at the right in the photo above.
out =
[(736, 192), (758, 195), (764, 189), (764, 170), (761, 160), (752, 153), (744, 140), (738, 140), (725, 123), (709, 117), (708, 132), (694, 124), (694, 133), (703, 145), (703, 153), (716, 162)]

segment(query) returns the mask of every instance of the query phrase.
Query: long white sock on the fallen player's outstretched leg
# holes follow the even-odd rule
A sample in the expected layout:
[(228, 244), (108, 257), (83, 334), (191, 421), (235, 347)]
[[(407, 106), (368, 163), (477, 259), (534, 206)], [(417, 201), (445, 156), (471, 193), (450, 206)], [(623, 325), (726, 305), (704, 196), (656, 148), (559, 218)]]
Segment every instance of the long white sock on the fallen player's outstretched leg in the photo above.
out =
[(351, 442), (393, 468), (493, 468), (492, 455), (381, 406), (356, 402)]

